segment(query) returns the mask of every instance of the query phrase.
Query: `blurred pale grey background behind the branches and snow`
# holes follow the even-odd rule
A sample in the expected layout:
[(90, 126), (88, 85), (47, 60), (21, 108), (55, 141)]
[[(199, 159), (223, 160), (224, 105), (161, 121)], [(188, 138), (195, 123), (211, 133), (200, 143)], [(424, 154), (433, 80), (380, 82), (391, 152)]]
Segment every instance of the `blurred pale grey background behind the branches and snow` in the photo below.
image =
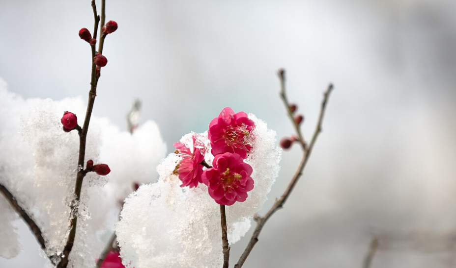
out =
[[(126, 129), (139, 98), (141, 121), (159, 124), (169, 152), (226, 106), (256, 114), (278, 140), (292, 134), (279, 68), (310, 138), (334, 83), (304, 176), (244, 267), (362, 267), (372, 237), (372, 268), (456, 266), (456, 1), (108, 0), (106, 14), (119, 27), (105, 41), (93, 114)], [(82, 27), (93, 30), (89, 0), (1, 0), (0, 77), (9, 90), (87, 96)], [(262, 212), (300, 154), (284, 151)], [(24, 250), (0, 267), (43, 267), (34, 237), (16, 225)], [(231, 267), (251, 233), (232, 245)]]

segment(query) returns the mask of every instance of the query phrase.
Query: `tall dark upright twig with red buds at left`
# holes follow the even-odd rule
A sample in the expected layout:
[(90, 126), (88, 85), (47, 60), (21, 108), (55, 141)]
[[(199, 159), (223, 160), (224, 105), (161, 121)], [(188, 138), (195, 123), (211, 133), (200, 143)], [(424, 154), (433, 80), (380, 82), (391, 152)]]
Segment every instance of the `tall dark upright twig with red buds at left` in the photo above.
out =
[[(93, 10), (93, 16), (94, 16), (94, 32), (96, 32), (96, 28), (98, 27), (98, 15), (96, 14), (96, 6), (95, 2), (91, 2), (92, 5), (92, 10)], [(105, 17), (104, 14), (104, 0), (102, 1), (102, 11), (101, 11), (101, 17), (102, 17), (102, 23)], [(101, 43), (101, 42), (100, 42)], [(101, 48), (103, 48), (103, 44), (100, 44)], [(88, 94), (88, 103), (87, 103), (87, 110), (85, 112), (85, 120), (84, 120), (84, 125), (82, 127), (82, 131), (80, 132), (79, 135), (79, 158), (78, 158), (78, 173), (76, 176), (76, 185), (75, 185), (75, 190), (74, 190), (74, 195), (76, 196), (76, 201), (79, 204), (79, 201), (81, 199), (81, 190), (82, 190), (82, 185), (83, 185), (83, 179), (85, 177), (86, 172), (84, 171), (84, 159), (85, 159), (85, 143), (86, 143), (86, 138), (87, 138), (87, 132), (88, 132), (88, 126), (90, 123), (90, 118), (92, 115), (92, 109), (93, 109), (93, 104), (95, 103), (95, 97), (96, 97), (96, 84), (97, 84), (97, 79), (96, 79), (96, 66), (95, 63), (93, 62), (93, 57), (95, 55), (95, 46), (90, 46), (92, 53), (91, 53), (91, 58), (90, 61), (92, 63), (92, 73), (90, 75), (90, 91)], [(73, 248), (74, 240), (76, 237), (76, 225), (78, 222), (78, 210), (79, 210), (79, 205), (75, 206), (72, 208), (73, 210), (73, 218), (70, 221), (70, 233), (68, 235), (67, 242), (65, 244), (65, 247), (63, 248), (63, 252), (61, 254), (61, 260), (57, 265), (57, 268), (66, 268), (68, 266), (68, 257), (69, 254)]]

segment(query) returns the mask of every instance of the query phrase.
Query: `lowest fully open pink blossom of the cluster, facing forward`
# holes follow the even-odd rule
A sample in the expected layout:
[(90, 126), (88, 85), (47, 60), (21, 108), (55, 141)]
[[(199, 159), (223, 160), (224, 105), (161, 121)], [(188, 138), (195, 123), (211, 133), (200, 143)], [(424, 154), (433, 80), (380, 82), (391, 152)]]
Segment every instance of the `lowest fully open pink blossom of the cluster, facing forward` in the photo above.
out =
[(234, 202), (244, 202), (247, 192), (254, 189), (250, 176), (252, 167), (244, 163), (237, 153), (226, 152), (215, 156), (213, 168), (202, 174), (202, 182), (209, 188), (209, 195), (220, 205), (230, 206)]

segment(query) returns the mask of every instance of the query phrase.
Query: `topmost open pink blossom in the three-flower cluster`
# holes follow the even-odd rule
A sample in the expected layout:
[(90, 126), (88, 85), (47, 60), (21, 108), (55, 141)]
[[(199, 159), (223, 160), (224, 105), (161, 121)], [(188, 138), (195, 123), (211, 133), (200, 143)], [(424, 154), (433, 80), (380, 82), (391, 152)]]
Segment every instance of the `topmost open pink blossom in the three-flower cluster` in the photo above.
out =
[(244, 112), (234, 113), (226, 107), (220, 115), (209, 124), (208, 138), (211, 141), (211, 153), (215, 156), (221, 153), (237, 153), (241, 158), (247, 158), (252, 146), (246, 138), (255, 128), (255, 123)]

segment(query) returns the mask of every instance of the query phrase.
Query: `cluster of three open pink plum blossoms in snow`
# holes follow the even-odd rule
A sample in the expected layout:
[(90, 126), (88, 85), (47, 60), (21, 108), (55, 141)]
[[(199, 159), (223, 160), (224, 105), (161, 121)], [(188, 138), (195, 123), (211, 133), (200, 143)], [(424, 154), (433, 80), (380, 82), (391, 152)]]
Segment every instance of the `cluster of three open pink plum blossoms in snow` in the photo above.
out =
[[(250, 176), (252, 167), (244, 163), (252, 150), (249, 144), (255, 123), (246, 113), (234, 111), (226, 107), (218, 117), (209, 124), (207, 138), (210, 141), (210, 153), (214, 156), (213, 167), (204, 161), (204, 147), (197, 142), (196, 134), (192, 136), (193, 144), (186, 146), (175, 143), (175, 153), (182, 159), (178, 162), (174, 174), (182, 181), (181, 187), (197, 187), (204, 183), (209, 195), (221, 205), (232, 205), (236, 201), (243, 202), (247, 192), (254, 188), (254, 180)], [(192, 149), (189, 147), (193, 147)], [(208, 167), (203, 171), (202, 165)]]

